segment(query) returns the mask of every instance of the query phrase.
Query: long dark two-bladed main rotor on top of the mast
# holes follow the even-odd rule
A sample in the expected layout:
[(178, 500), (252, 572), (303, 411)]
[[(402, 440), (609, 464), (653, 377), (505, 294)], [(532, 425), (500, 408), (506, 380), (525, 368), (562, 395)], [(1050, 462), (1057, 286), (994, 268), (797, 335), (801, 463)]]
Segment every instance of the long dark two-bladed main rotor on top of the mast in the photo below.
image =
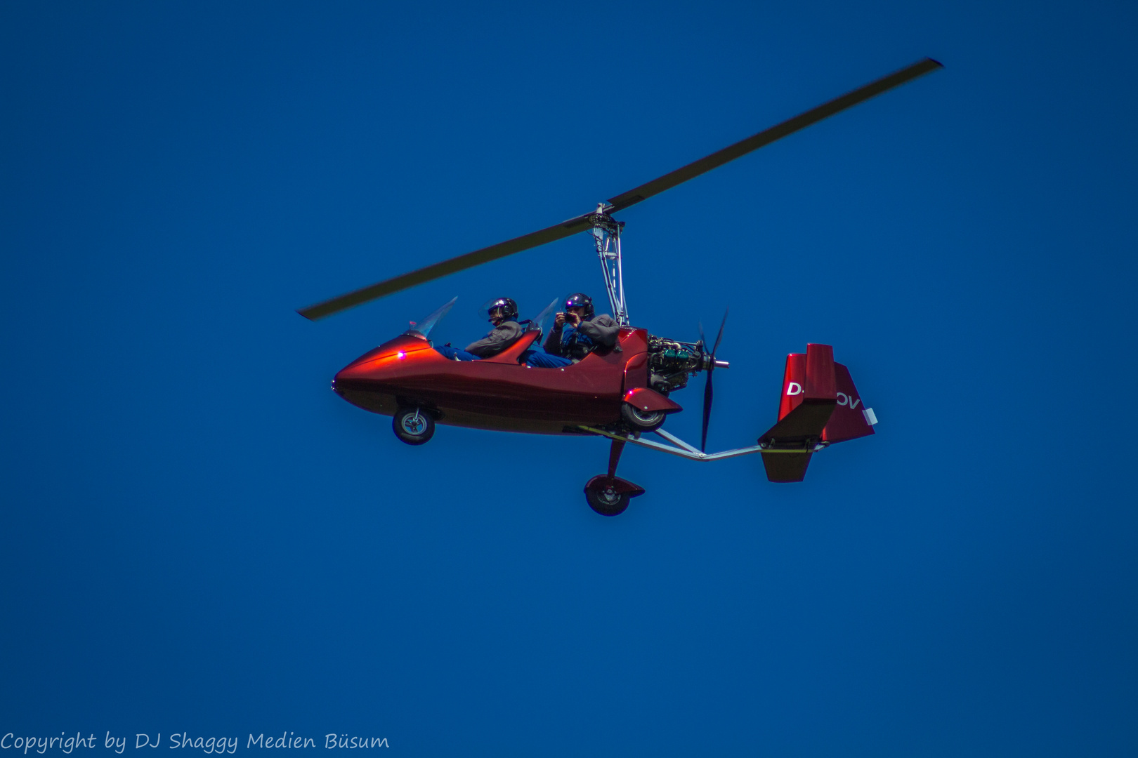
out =
[[(787, 134), (793, 134), (801, 128), (806, 128), (811, 124), (820, 122), (827, 116), (833, 116), (839, 111), (846, 110), (847, 108), (863, 102), (864, 100), (868, 100), (874, 95), (881, 94), (887, 90), (905, 84), (906, 82), (915, 80), (916, 77), (923, 76), (924, 74), (933, 72), (938, 68), (942, 68), (942, 66), (932, 58), (918, 60), (912, 66), (907, 66), (899, 72), (890, 74), (889, 76), (883, 76), (875, 82), (859, 86), (851, 92), (847, 92), (840, 98), (834, 98), (830, 102), (825, 102), (817, 108), (807, 110), (805, 114), (799, 114), (798, 116), (784, 120), (781, 124), (776, 124), (770, 128), (764, 130), (758, 134), (752, 134), (745, 140), (740, 140), (735, 144), (728, 145), (717, 152), (712, 152), (710, 156), (700, 158), (699, 160), (677, 168), (669, 174), (665, 174), (663, 176), (654, 178), (651, 182), (646, 182), (640, 186), (628, 190), (627, 192), (609, 198), (609, 201), (607, 203), (602, 203), (597, 210), (603, 214), (624, 210), (625, 208), (646, 198), (659, 194), (665, 190), (670, 190), (677, 184), (682, 184), (690, 178), (695, 178), (700, 174), (704, 174), (712, 168), (718, 168), (727, 161), (744, 156), (752, 150), (758, 150), (759, 148), (770, 144), (776, 140), (781, 140)], [(415, 284), (430, 282), (431, 280), (446, 276), (447, 274), (454, 274), (455, 272), (461, 272), (463, 269), (471, 268), (472, 266), (478, 266), (479, 264), (497, 260), (498, 258), (512, 256), (513, 253), (521, 252), (522, 250), (529, 250), (530, 248), (536, 248), (538, 245), (546, 244), (547, 242), (554, 242), (556, 240), (571, 236), (577, 232), (584, 232), (592, 228), (593, 216), (595, 213), (596, 211), (575, 216), (569, 220), (561, 222), (560, 224), (555, 224), (553, 226), (547, 226), (541, 231), (523, 234), (522, 236), (506, 240), (505, 242), (492, 244), (488, 248), (481, 248), (480, 250), (475, 250), (473, 252), (468, 252), (455, 258), (431, 264), (430, 266), (424, 266), (423, 268), (413, 270), (410, 274), (402, 274), (399, 276), (379, 282), (378, 284), (372, 284), (354, 292), (341, 294), (338, 298), (332, 298), (331, 300), (325, 300), (324, 302), (302, 308), (297, 313), (305, 318), (315, 320), (347, 308), (362, 305), (369, 300), (374, 300), (376, 298), (382, 298), (384, 295), (391, 294), (393, 292), (405, 290), (410, 286), (414, 286)], [(712, 350), (712, 352), (715, 351)], [(708, 373), (709, 388), (710, 380), (711, 374)]]

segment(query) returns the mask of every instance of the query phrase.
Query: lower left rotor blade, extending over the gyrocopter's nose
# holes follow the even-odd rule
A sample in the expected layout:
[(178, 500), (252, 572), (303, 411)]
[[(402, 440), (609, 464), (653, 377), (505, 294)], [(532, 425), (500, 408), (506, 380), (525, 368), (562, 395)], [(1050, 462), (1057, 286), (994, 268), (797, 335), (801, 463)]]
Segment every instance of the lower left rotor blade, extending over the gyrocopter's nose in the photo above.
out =
[(571, 236), (577, 232), (584, 232), (591, 226), (592, 222), (589, 222), (586, 216), (577, 216), (576, 218), (570, 218), (567, 222), (561, 222), (555, 226), (543, 228), (539, 232), (525, 234), (512, 240), (506, 240), (505, 242), (492, 244), (490, 247), (483, 248), (481, 250), (475, 250), (473, 252), (468, 252), (463, 256), (457, 256), (438, 264), (431, 264), (430, 266), (411, 272), (410, 274), (403, 274), (402, 276), (396, 276), (394, 278), (379, 282), (378, 284), (365, 286), (362, 290), (356, 290), (355, 292), (348, 292), (347, 294), (341, 294), (338, 298), (325, 300), (324, 302), (316, 303), (315, 306), (302, 308), (296, 313), (300, 314), (305, 318), (316, 320), (318, 318), (331, 316), (335, 313), (362, 305), (369, 300), (382, 298), (385, 294), (391, 294), (393, 292), (405, 290), (409, 286), (414, 286), (415, 284), (422, 284), (423, 282), (429, 282), (440, 276), (446, 276), (447, 274), (461, 272), (464, 268), (470, 268), (490, 260), (512, 256), (516, 252), (529, 250), (530, 248), (536, 248), (537, 245), (545, 244), (546, 242), (554, 242), (556, 240)]

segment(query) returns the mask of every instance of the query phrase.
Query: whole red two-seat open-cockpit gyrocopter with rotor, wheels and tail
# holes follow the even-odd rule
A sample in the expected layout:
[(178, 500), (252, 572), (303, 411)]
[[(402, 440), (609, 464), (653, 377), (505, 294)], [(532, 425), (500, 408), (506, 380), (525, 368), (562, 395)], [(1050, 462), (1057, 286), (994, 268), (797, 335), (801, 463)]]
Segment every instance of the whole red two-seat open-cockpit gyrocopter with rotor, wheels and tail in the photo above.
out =
[[(702, 330), (698, 342), (683, 342), (633, 326), (625, 305), (620, 264), (620, 233), (625, 224), (613, 218), (613, 214), (940, 67), (935, 60), (925, 58), (610, 198), (591, 213), (298, 311), (315, 320), (447, 274), (588, 232), (601, 260), (612, 317), (619, 325), (619, 338), (611, 349), (594, 350), (564, 367), (525, 365), (522, 355), (536, 347), (553, 303), (497, 355), (483, 360), (451, 360), (435, 349), (430, 333), (454, 305), (452, 300), (414, 322), (409, 331), (353, 360), (336, 374), (332, 389), (364, 410), (391, 416), (396, 435), (410, 444), (427, 442), (436, 424), (608, 438), (611, 440), (608, 472), (585, 485), (588, 505), (604, 516), (624, 513), (630, 498), (644, 493), (643, 488), (616, 475), (626, 444), (703, 461), (759, 453), (769, 481), (801, 482), (815, 452), (835, 442), (873, 434), (877, 419), (863, 403), (849, 370), (834, 361), (833, 349), (826, 344), (808, 344), (805, 353), (791, 353), (786, 357), (774, 426), (760, 434), (754, 445), (704, 452), (711, 377), (716, 368), (728, 367), (727, 361), (717, 357), (723, 325), (710, 345)], [(696, 448), (661, 426), (668, 415), (682, 410), (670, 393), (686, 386), (701, 372), (707, 374), (707, 381), (702, 439)], [(644, 439), (648, 433), (662, 441)]]

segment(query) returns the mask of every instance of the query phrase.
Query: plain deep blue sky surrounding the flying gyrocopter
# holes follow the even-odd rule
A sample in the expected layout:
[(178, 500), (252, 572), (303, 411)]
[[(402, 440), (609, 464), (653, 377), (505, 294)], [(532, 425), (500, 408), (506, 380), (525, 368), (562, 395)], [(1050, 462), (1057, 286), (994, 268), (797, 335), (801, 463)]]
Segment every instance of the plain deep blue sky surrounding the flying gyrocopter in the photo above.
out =
[[(0, 731), (1133, 755), (1136, 28), (1102, 2), (5, 6)], [(600, 441), (411, 448), (329, 392), (452, 297), (456, 343), (490, 297), (600, 297), (588, 238), (295, 308), (923, 56), (946, 68), (620, 216), (637, 325), (731, 308), (709, 448), (770, 425), (787, 352), (850, 367), (879, 433), (805, 483), (633, 450), (648, 493), (602, 518)]]

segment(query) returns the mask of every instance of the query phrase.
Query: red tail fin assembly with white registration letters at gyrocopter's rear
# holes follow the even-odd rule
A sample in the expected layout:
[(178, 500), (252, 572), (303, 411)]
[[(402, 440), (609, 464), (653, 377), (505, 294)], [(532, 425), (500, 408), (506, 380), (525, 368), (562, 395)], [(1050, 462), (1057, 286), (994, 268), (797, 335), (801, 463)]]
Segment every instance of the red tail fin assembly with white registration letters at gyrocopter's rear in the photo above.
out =
[(818, 442), (873, 434), (877, 419), (864, 408), (849, 369), (834, 363), (831, 345), (808, 344), (806, 355), (786, 356), (782, 386), (778, 423), (759, 438), (770, 449), (762, 465), (772, 482), (801, 482)]

